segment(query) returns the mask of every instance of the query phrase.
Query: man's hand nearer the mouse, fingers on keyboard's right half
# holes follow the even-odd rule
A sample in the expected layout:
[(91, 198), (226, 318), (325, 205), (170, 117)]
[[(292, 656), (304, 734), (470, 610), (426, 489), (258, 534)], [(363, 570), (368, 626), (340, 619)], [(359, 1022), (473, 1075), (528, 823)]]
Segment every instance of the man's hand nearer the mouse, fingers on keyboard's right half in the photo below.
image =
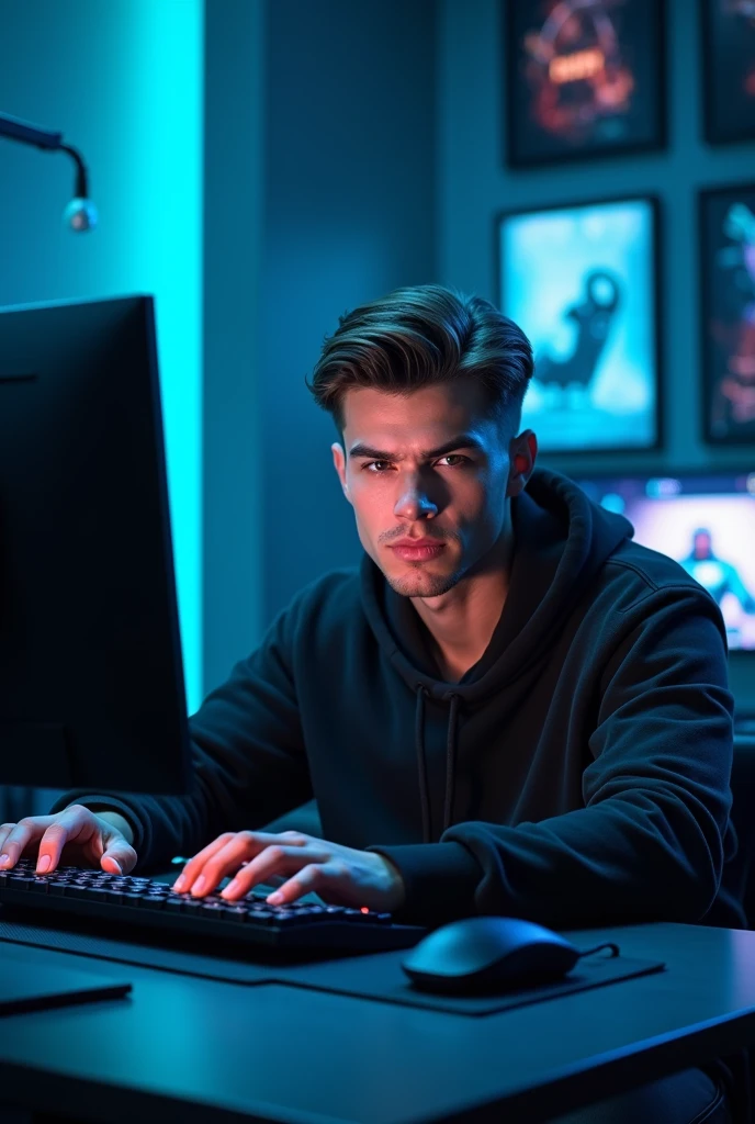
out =
[(275, 906), (312, 890), (333, 905), (385, 913), (398, 909), (404, 899), (401, 876), (381, 854), (301, 832), (226, 832), (190, 859), (173, 889), (202, 897), (230, 874), (236, 877), (221, 891), (229, 901), (237, 901), (273, 874), (292, 876), (266, 898)]

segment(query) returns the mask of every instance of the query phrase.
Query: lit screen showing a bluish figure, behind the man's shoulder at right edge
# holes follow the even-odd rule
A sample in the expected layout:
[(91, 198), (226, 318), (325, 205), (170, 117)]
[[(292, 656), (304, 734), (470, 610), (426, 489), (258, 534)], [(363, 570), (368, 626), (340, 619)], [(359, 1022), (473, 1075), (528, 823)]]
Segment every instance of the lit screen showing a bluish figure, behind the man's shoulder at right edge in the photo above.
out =
[(755, 650), (755, 471), (579, 479), (625, 515), (635, 541), (680, 562), (713, 596), (731, 651)]

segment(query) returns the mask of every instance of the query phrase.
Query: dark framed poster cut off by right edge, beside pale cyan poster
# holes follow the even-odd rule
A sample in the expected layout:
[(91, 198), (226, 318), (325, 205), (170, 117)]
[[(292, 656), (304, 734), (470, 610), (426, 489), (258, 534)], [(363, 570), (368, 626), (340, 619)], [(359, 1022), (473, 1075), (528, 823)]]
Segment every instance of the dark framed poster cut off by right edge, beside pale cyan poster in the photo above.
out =
[(699, 196), (703, 435), (755, 443), (755, 182)]

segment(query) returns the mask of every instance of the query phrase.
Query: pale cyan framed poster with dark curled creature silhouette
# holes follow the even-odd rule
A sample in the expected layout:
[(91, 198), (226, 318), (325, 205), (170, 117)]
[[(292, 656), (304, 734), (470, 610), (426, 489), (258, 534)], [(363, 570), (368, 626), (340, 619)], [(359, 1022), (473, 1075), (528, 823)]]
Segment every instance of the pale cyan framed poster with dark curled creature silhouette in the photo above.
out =
[(500, 307), (535, 353), (522, 428), (543, 452), (661, 444), (657, 211), (643, 196), (498, 220)]

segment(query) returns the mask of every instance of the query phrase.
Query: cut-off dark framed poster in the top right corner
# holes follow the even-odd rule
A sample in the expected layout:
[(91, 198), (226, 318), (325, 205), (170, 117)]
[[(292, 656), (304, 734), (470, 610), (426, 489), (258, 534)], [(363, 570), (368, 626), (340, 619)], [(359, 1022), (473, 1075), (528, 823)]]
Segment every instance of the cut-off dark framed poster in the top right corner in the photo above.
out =
[(709, 144), (755, 137), (755, 4), (700, 0), (704, 133)]

